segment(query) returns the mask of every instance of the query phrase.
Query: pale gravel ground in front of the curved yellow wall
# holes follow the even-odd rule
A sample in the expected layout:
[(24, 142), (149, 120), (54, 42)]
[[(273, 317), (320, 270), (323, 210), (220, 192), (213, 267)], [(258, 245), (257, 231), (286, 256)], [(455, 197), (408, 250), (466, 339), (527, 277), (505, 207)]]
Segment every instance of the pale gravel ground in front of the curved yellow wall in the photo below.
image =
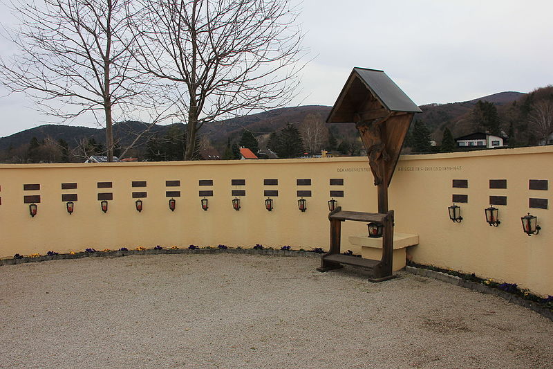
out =
[(408, 273), (132, 255), (0, 267), (2, 368), (553, 368), (553, 322)]

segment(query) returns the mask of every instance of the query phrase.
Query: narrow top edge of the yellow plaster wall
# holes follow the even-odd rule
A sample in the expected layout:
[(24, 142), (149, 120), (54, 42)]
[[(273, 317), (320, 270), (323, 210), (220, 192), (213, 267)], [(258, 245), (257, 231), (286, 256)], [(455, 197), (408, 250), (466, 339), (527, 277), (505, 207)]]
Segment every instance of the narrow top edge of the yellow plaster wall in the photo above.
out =
[[(546, 154), (553, 152), (553, 145), (517, 147), (510, 149), (478, 150), (469, 152), (448, 152), (443, 154), (409, 154), (401, 155), (400, 161), (457, 159), (478, 156)], [(256, 164), (301, 164), (301, 163), (347, 163), (367, 162), (366, 156), (344, 156), (339, 158), (312, 159), (257, 159), (257, 160), (202, 160), (202, 161), (142, 161), (133, 163), (51, 163), (51, 164), (0, 164), (2, 169), (29, 168), (105, 168), (105, 167), (142, 167), (171, 165), (256, 165)]]

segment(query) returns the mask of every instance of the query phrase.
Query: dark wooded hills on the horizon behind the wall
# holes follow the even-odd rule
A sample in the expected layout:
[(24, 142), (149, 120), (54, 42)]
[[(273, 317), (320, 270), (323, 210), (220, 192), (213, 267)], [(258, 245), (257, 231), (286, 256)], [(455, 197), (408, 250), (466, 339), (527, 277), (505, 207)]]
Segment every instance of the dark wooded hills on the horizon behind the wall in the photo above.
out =
[[(513, 123), (518, 132), (523, 132), (526, 123), (524, 123), (521, 111), (529, 109), (529, 100), (534, 96), (534, 93), (536, 93), (537, 97), (540, 97), (550, 92), (549, 88), (537, 89), (531, 94), (505, 91), (464, 102), (422, 105), (420, 107), (422, 114), (417, 114), (415, 119), (422, 120), (429, 128), (433, 140), (439, 143), (446, 127), (449, 127), (453, 136), (462, 136), (470, 133), (472, 130), (472, 111), (476, 102), (483, 100), (492, 102), (497, 107), (502, 122), (501, 129), (507, 132), (509, 124)], [(331, 107), (328, 106), (306, 105), (263, 111), (220, 122), (206, 123), (200, 130), (200, 136), (209, 138), (209, 143), (220, 152), (223, 152), (227, 139), (236, 143), (239, 141), (243, 130), (247, 129), (258, 138), (260, 146), (264, 147), (263, 144), (267, 141), (271, 132), (278, 132), (288, 123), (301, 123), (308, 114), (318, 114), (324, 120), (328, 116), (330, 109)], [(141, 122), (116, 123), (113, 126), (113, 133), (120, 147), (126, 147), (147, 127), (146, 123)], [(178, 129), (182, 130), (185, 129), (185, 124), (153, 125), (137, 141), (136, 146), (138, 146), (138, 149), (132, 153), (140, 156), (140, 152), (145, 146), (144, 143), (151, 136), (164, 136), (171, 127), (178, 127)], [(351, 124), (335, 123), (328, 125), (328, 129), (339, 142), (343, 140), (350, 141), (357, 137), (357, 131), (354, 125)], [(33, 137), (36, 137), (39, 141), (47, 137), (52, 138), (54, 141), (63, 139), (73, 149), (85, 138), (94, 138), (97, 143), (104, 143), (105, 129), (68, 125), (41, 125), (40, 127), (26, 129), (17, 134), (0, 138), (0, 150), (6, 151), (8, 148), (13, 149), (17, 147), (21, 149), (22, 147), (26, 147)], [(529, 139), (531, 138), (523, 136), (523, 141), (528, 141)]]

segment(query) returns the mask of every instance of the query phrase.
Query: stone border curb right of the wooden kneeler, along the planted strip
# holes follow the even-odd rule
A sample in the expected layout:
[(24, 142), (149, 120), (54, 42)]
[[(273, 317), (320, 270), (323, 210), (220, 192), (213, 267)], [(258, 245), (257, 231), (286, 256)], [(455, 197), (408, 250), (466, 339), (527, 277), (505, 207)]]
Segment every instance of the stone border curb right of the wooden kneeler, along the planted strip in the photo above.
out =
[(514, 303), (516, 305), (526, 307), (527, 309), (534, 310), (534, 312), (541, 314), (545, 316), (545, 318), (553, 321), (553, 312), (550, 309), (547, 309), (547, 307), (538, 305), (534, 301), (525, 300), (524, 298), (521, 298), (514, 294), (509, 294), (509, 292), (502, 291), (494, 287), (489, 287), (487, 285), (482, 285), (482, 283), (471, 282), (470, 280), (465, 280), (457, 276), (451, 276), (450, 274), (442, 273), (441, 271), (410, 267), (409, 265), (405, 267), (405, 271), (411, 274), (416, 274), (417, 276), (433, 278), (441, 280), (442, 282), (451, 283), (451, 285), (458, 285), (460, 287), (472, 289), (473, 291), (478, 291), (482, 294), (495, 295), (499, 296), (500, 298), (505, 298), (505, 300), (509, 301), (509, 303)]

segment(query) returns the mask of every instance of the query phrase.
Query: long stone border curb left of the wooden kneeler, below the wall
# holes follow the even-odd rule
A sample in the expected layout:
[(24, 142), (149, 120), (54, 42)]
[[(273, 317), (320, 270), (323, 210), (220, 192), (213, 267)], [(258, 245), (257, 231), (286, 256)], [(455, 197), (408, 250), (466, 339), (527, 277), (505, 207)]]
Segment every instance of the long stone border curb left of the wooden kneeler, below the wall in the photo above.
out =
[(306, 258), (320, 258), (322, 253), (314, 253), (312, 251), (296, 251), (296, 250), (257, 250), (257, 249), (147, 249), (147, 250), (129, 250), (129, 251), (97, 251), (95, 253), (62, 253), (59, 255), (41, 255), (37, 258), (21, 258), (21, 259), (4, 259), (0, 260), (1, 265), (24, 264), (26, 262), (44, 262), (48, 260), (66, 260), (79, 258), (118, 258), (127, 255), (157, 255), (157, 254), (176, 254), (176, 253), (194, 253), (194, 254), (211, 254), (211, 253), (245, 253), (250, 255), (270, 255), (270, 256), (303, 256)]

